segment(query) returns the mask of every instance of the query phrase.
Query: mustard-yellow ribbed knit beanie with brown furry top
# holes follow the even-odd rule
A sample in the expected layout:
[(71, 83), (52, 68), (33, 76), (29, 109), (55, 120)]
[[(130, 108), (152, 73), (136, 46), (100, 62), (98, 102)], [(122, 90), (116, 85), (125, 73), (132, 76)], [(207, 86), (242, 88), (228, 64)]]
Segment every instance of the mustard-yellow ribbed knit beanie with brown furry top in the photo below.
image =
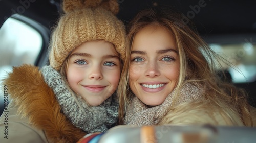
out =
[(115, 46), (121, 60), (126, 53), (125, 26), (114, 14), (116, 0), (63, 0), (65, 12), (51, 37), (50, 65), (57, 71), (77, 46), (86, 41), (105, 40)]

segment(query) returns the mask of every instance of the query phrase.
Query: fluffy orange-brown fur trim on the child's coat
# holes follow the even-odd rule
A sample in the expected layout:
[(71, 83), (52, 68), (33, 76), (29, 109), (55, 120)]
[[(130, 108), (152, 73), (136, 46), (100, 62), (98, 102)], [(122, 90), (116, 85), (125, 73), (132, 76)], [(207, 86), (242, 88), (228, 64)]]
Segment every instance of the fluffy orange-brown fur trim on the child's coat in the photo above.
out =
[(35, 127), (44, 130), (49, 142), (76, 142), (86, 135), (61, 113), (54, 92), (45, 83), (37, 67), (14, 67), (3, 83), (8, 86), (18, 113), (27, 116)]

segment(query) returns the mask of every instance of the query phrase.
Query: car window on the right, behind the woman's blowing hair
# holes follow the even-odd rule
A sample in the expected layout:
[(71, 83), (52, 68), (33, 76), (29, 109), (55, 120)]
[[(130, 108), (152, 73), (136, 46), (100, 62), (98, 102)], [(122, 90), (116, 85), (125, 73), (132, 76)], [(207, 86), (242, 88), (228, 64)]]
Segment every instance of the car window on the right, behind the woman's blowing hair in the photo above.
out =
[(222, 68), (229, 72), (233, 83), (256, 81), (256, 44), (210, 44), (210, 47), (233, 65), (231, 68), (222, 64)]

